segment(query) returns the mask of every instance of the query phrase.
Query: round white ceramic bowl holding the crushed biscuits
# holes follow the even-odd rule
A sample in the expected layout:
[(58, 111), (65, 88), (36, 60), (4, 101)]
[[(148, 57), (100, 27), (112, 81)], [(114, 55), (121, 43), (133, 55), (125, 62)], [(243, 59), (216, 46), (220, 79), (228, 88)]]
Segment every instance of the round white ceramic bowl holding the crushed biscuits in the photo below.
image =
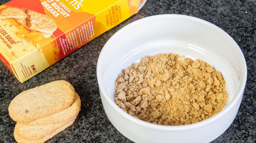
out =
[[(118, 74), (141, 57), (158, 53), (199, 58), (221, 71), (229, 95), (223, 110), (209, 119), (181, 126), (148, 123), (121, 110), (113, 98)], [(104, 110), (117, 130), (137, 143), (214, 140), (235, 119), (246, 77), (244, 55), (227, 33), (204, 20), (175, 14), (150, 16), (126, 25), (107, 41), (97, 63)]]

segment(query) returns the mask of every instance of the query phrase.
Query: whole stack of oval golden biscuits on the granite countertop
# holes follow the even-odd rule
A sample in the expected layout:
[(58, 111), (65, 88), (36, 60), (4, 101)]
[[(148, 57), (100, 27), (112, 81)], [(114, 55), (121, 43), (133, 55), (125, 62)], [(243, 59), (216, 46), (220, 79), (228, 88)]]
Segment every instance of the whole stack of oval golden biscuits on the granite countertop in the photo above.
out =
[(17, 123), (18, 143), (43, 143), (75, 121), (81, 100), (74, 87), (59, 80), (21, 92), (9, 105), (10, 117)]

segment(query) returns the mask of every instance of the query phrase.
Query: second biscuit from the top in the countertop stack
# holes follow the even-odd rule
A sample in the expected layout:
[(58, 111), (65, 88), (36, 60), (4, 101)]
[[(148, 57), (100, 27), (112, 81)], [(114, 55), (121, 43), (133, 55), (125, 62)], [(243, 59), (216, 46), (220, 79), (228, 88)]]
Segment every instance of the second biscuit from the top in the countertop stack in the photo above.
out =
[(52, 115), (49, 115), (31, 122), (19, 122), (19, 123), (27, 126), (34, 126), (34, 125), (61, 122), (64, 119), (72, 119), (74, 118), (74, 116), (77, 116), (79, 111), (81, 110), (80, 107), (81, 107), (81, 100), (79, 95), (76, 93), (74, 103), (72, 103), (67, 109), (64, 109), (60, 112), (54, 113)]

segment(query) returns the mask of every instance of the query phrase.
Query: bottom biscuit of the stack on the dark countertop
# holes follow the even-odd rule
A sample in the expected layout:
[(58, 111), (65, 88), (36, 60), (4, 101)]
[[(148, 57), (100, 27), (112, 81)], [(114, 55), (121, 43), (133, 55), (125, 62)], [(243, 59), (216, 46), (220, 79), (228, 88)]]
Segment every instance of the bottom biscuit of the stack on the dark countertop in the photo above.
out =
[(54, 135), (57, 135), (59, 132), (63, 131), (64, 129), (66, 129), (70, 125), (72, 125), (74, 123), (74, 121), (75, 121), (75, 119), (71, 120), (70, 122), (68, 122), (67, 124), (64, 124), (60, 128), (58, 128), (55, 131), (53, 131), (52, 133), (50, 133), (49, 135), (46, 135), (46, 136), (44, 136), (40, 139), (37, 139), (37, 140), (27, 140), (23, 136), (20, 136), (17, 133), (17, 131), (14, 129), (14, 138), (18, 143), (43, 143), (43, 142), (47, 141), (48, 139), (52, 138)]

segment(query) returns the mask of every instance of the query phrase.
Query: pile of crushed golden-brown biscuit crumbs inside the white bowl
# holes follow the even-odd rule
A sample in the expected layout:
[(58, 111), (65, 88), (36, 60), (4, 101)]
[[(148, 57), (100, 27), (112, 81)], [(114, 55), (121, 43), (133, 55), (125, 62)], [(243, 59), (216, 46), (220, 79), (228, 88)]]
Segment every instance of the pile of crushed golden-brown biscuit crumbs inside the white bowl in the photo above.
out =
[(160, 125), (210, 118), (228, 98), (221, 72), (172, 53), (143, 57), (118, 75), (115, 86), (115, 103), (122, 110)]

